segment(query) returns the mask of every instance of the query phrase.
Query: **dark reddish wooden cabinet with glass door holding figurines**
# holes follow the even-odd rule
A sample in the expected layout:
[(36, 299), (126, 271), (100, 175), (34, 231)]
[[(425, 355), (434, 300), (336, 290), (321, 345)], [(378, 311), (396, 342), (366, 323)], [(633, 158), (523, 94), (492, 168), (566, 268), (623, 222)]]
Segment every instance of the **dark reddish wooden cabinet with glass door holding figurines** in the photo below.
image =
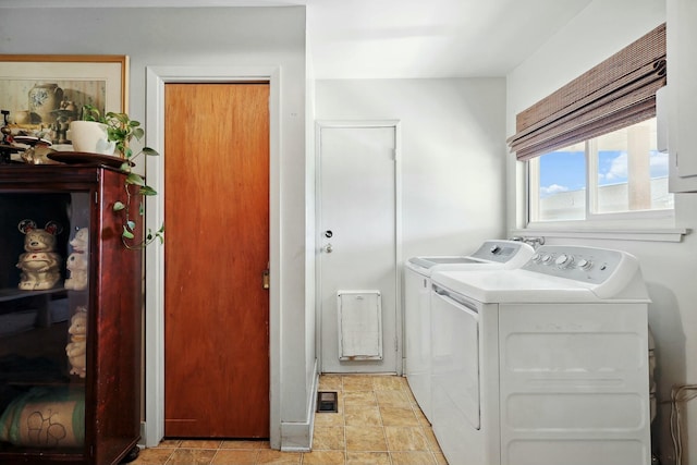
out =
[(137, 453), (142, 253), (121, 243), (122, 193), (118, 170), (0, 166), (0, 463)]

